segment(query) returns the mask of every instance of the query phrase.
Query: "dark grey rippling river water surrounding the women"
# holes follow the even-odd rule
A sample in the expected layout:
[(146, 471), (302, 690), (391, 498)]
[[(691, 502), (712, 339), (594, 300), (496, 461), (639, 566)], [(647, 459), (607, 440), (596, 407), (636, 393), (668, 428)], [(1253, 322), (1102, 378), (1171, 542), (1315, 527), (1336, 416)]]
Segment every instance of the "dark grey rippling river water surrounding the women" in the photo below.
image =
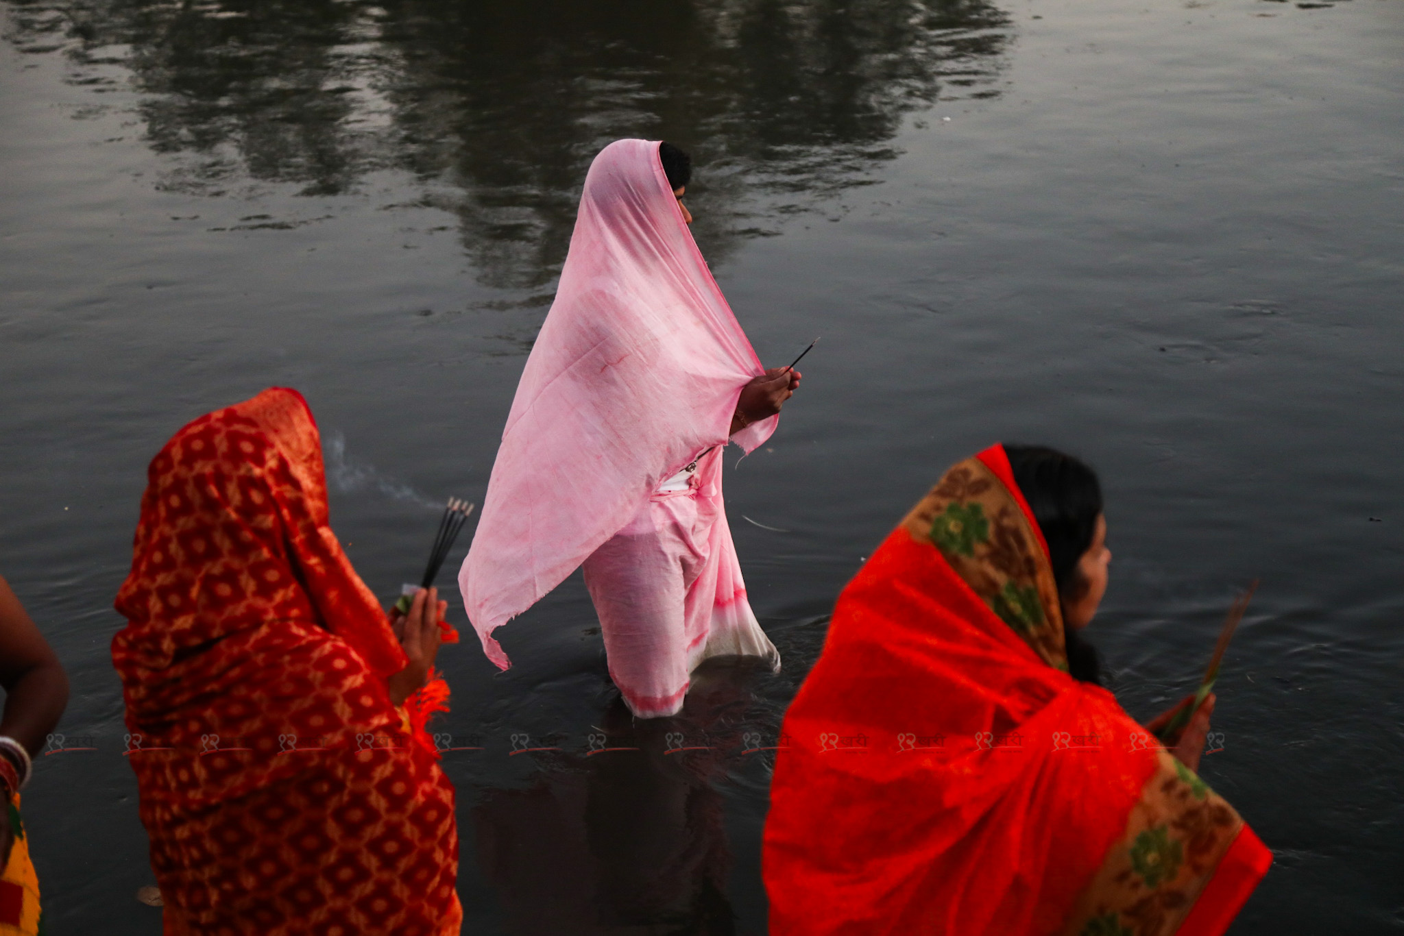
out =
[(146, 462), (299, 387), (334, 526), (393, 595), (432, 504), (482, 500), (619, 136), (694, 152), (698, 239), (764, 359), (824, 337), (726, 481), (786, 668), (630, 724), (578, 581), (500, 631), (510, 672), (446, 648), (441, 731), (484, 748), (445, 756), (465, 932), (762, 933), (769, 762), (741, 751), (861, 559), (1001, 438), (1102, 473), (1090, 633), (1132, 713), (1189, 689), (1262, 578), (1203, 769), (1278, 856), (1233, 932), (1404, 929), (1400, 0), (4, 14), (0, 571), (72, 672), (69, 745), (98, 748), (25, 797), (53, 933), (159, 932), (107, 650)]

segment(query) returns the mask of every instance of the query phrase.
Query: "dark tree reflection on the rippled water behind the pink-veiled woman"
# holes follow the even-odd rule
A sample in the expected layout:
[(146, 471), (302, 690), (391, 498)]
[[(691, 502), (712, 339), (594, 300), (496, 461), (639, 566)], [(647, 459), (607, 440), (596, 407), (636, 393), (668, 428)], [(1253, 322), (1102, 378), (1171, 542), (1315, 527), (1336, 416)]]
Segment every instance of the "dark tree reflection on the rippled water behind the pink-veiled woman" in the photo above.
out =
[(84, 0), (15, 7), (14, 39), (69, 44), (74, 80), (122, 63), (161, 181), (355, 191), (406, 168), (461, 219), (486, 285), (539, 289), (578, 185), (621, 136), (694, 150), (698, 239), (719, 260), (776, 215), (828, 210), (894, 153), (903, 116), (1000, 93), (987, 0)]

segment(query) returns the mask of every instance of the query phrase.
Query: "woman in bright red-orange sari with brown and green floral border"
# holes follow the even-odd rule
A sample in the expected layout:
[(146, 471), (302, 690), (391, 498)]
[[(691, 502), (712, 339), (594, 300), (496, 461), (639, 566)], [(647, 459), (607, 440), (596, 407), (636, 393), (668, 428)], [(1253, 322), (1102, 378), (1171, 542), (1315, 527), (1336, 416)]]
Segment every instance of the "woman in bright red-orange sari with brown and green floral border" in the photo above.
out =
[(772, 936), (1228, 926), (1272, 855), (1193, 773), (1212, 699), (1167, 749), (1179, 706), (1141, 727), (1095, 683), (1105, 535), (1090, 469), (995, 445), (873, 553), (785, 716)]

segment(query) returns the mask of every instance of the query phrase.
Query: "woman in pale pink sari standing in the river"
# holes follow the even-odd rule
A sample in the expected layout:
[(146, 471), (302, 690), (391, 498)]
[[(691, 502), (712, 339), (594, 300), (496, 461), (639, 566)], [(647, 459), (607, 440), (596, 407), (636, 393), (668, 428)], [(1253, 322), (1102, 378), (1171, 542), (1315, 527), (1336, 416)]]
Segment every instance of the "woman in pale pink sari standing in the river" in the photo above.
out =
[(722, 450), (768, 439), (799, 373), (761, 369), (712, 279), (681, 202), (689, 168), (649, 140), (591, 164), (459, 573), (507, 669), (491, 633), (583, 564), (609, 675), (639, 717), (677, 713), (708, 657), (779, 668), (746, 598)]

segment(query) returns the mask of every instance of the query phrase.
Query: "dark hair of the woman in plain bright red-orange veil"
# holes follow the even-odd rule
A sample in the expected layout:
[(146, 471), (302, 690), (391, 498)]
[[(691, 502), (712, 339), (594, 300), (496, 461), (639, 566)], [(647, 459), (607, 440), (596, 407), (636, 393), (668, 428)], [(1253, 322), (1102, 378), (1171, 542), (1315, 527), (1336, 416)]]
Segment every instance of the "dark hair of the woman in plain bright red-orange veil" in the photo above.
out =
[[(1042, 445), (1005, 445), (1014, 469), (1014, 483), (1033, 511), (1033, 519), (1049, 544), (1053, 581), (1061, 601), (1078, 599), (1088, 582), (1077, 563), (1091, 549), (1097, 518), (1102, 514), (1102, 486), (1097, 472), (1071, 455)], [(1071, 627), (1063, 629), (1068, 671), (1082, 682), (1101, 685), (1097, 648), (1084, 643)]]

